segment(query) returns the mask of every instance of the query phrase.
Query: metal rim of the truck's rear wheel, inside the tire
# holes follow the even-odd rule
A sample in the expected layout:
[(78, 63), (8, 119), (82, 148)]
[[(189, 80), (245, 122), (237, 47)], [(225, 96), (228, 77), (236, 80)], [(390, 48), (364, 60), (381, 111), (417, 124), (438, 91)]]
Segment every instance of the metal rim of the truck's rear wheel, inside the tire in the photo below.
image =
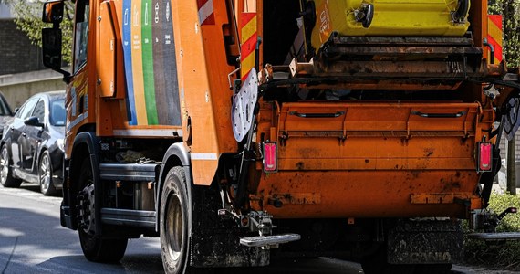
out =
[(170, 196), (168, 201), (165, 230), (169, 243), (169, 252), (174, 260), (178, 260), (182, 255), (182, 242), (184, 222), (182, 221), (182, 205), (178, 195)]

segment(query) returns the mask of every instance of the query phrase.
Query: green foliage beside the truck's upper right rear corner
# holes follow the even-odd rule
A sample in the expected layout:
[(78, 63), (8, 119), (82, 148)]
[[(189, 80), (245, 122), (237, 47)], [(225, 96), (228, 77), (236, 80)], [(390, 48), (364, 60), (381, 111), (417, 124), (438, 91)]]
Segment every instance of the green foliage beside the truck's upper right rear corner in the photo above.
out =
[(489, 13), (504, 16), (504, 58), (520, 67), (520, 0), (490, 0)]

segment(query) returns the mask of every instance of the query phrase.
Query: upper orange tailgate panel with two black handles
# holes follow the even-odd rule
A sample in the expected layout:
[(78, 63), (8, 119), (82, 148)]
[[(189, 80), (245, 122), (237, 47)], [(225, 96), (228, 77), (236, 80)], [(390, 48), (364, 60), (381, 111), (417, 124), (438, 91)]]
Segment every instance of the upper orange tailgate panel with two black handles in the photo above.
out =
[[(282, 138), (291, 136), (347, 138), (354, 132), (378, 136), (474, 135), (478, 103), (286, 103), (278, 120)], [(299, 133), (297, 133), (299, 132)], [(388, 133), (388, 134), (387, 134)], [(363, 134), (360, 134), (363, 135)], [(397, 137), (396, 136), (396, 137)]]

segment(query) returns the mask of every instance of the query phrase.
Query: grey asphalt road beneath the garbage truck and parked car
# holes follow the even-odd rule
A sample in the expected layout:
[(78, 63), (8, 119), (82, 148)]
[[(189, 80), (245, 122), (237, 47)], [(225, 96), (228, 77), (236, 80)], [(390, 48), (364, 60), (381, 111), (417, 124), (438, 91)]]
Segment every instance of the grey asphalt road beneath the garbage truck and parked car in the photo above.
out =
[[(61, 197), (46, 197), (38, 187), (0, 186), (0, 274), (10, 273), (163, 273), (158, 238), (130, 239), (117, 264), (89, 262), (77, 231), (61, 227)], [(363, 273), (357, 263), (334, 258), (286, 259), (266, 268), (225, 269), (218, 273)], [(454, 266), (453, 273), (507, 273)]]

